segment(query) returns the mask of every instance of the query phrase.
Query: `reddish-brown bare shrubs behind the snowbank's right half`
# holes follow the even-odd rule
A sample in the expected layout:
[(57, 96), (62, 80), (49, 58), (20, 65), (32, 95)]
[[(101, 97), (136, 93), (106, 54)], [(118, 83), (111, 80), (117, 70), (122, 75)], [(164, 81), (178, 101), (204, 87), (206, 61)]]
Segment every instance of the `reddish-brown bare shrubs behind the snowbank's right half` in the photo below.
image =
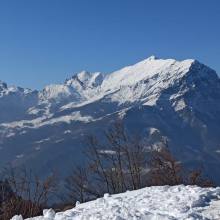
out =
[(204, 177), (202, 169), (188, 170), (169, 151), (167, 144), (152, 152), (149, 172), (150, 185), (197, 185), (213, 187), (214, 183)]

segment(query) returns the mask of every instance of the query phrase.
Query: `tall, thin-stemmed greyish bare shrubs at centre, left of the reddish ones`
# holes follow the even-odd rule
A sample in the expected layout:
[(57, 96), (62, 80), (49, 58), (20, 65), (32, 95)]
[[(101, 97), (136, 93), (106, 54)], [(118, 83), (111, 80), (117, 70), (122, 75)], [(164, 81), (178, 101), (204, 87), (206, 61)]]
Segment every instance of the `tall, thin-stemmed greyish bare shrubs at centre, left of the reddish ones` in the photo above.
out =
[(74, 169), (66, 179), (72, 201), (84, 202), (104, 193), (135, 190), (146, 184), (146, 145), (129, 137), (120, 122), (105, 133), (105, 143), (88, 137), (87, 166)]

